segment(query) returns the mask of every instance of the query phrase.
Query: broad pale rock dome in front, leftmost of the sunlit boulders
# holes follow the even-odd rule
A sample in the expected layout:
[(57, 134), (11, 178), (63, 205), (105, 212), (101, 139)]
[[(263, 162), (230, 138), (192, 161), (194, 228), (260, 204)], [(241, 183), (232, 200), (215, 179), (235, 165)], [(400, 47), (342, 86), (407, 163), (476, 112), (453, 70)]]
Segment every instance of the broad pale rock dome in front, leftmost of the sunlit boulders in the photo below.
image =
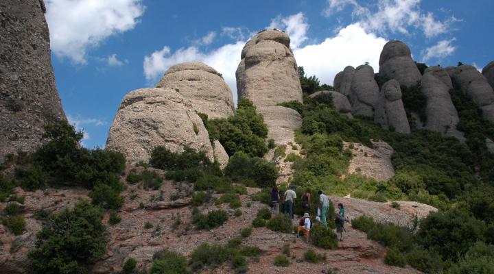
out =
[(164, 88), (134, 90), (120, 103), (106, 148), (120, 151), (127, 162), (136, 163), (148, 161), (157, 146), (176, 152), (188, 146), (214, 159), (209, 134), (189, 99)]

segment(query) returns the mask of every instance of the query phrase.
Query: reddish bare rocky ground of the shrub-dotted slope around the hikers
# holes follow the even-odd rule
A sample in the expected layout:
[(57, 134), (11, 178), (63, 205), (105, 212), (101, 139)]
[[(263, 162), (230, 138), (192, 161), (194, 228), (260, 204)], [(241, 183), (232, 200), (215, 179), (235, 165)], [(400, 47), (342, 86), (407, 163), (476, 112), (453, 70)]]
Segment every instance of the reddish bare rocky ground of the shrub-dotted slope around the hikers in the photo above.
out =
[[(184, 197), (172, 201), (170, 195), (185, 195), (190, 191), (187, 184), (176, 184), (165, 181), (158, 190), (144, 190), (139, 184), (128, 185), (122, 193), (126, 203), (119, 210), (121, 223), (108, 225), (108, 252), (103, 260), (97, 262), (91, 273), (119, 273), (123, 262), (132, 257), (137, 260), (138, 267), (149, 266), (152, 255), (161, 249), (171, 249), (189, 256), (202, 242), (226, 243), (229, 239), (239, 236), (244, 227), (249, 227), (259, 208), (268, 206), (250, 199), (250, 194), (259, 191), (248, 188), (248, 195), (241, 195), (242, 216), (236, 217), (227, 203), (199, 208), (202, 212), (221, 208), (226, 210), (229, 219), (222, 227), (210, 231), (195, 230), (191, 224), (190, 198)], [(20, 236), (10, 234), (0, 225), (0, 266), (5, 273), (23, 273), (27, 263), (26, 254), (34, 244), (36, 232), (41, 222), (36, 220), (38, 210), (60, 212), (71, 207), (78, 199), (87, 198), (87, 190), (47, 189), (35, 192), (23, 192), (16, 189), (16, 194), (25, 197), (23, 216), (27, 230)], [(219, 195), (217, 195), (219, 196)], [(390, 221), (399, 225), (408, 225), (414, 215), (419, 218), (430, 210), (427, 205), (414, 202), (400, 202), (401, 210), (391, 208), (388, 203), (376, 203), (352, 198), (332, 198), (335, 205), (344, 203), (351, 218), (368, 215), (377, 221)], [(141, 202), (143, 206), (140, 206)], [(0, 209), (5, 208), (2, 203)], [(109, 212), (105, 214), (104, 223), (108, 223)], [(145, 229), (145, 223), (153, 227)], [(296, 221), (294, 221), (295, 224)], [(384, 264), (385, 249), (377, 242), (368, 240), (366, 234), (346, 224), (344, 241), (337, 250), (324, 250), (307, 244), (294, 234), (281, 234), (261, 227), (253, 229), (252, 234), (245, 238), (242, 245), (256, 246), (261, 249), (261, 256), (249, 259), (249, 273), (419, 273), (414, 269), (397, 268)], [(290, 245), (290, 266), (283, 268), (274, 266), (274, 257), (281, 253), (284, 245)], [(303, 253), (314, 248), (318, 253), (326, 253), (327, 261), (313, 264), (303, 260)], [(204, 273), (231, 273), (230, 264), (217, 269), (206, 269)]]

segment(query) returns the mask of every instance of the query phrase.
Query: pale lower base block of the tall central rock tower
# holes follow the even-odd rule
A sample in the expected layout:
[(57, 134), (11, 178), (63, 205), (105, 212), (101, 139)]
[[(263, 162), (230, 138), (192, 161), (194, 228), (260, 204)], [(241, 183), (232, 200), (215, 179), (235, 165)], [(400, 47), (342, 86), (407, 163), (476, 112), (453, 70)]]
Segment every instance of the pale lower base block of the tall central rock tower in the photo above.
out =
[(302, 127), (302, 116), (292, 108), (280, 105), (258, 107), (257, 112), (264, 117), (268, 125), (268, 138), (277, 144), (294, 142), (294, 132)]

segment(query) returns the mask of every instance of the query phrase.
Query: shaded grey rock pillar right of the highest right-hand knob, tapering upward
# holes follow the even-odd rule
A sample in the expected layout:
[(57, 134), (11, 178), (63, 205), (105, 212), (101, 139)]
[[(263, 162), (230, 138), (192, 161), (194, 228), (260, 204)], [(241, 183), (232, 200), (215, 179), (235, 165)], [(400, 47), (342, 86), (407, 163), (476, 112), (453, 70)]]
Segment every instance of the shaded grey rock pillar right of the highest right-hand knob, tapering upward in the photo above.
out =
[(421, 81), (421, 92), (427, 101), (424, 128), (464, 140), (463, 134), (456, 129), (460, 119), (449, 95), (452, 87), (449, 75), (440, 66), (425, 70)]

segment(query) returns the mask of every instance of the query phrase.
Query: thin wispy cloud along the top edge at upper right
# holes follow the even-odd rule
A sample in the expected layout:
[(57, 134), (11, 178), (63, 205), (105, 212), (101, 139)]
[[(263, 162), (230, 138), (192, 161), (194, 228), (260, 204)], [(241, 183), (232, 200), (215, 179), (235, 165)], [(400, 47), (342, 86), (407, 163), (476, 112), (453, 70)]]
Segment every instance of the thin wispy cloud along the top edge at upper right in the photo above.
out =
[[(353, 8), (353, 17), (366, 30), (371, 32), (398, 32), (409, 34), (410, 28), (420, 29), (424, 36), (432, 38), (445, 34), (451, 23), (458, 19), (451, 16), (445, 21), (434, 18), (432, 12), (423, 13), (420, 10), (421, 0), (377, 0), (376, 5), (364, 6), (357, 0), (327, 0), (328, 6), (324, 12), (329, 16), (342, 11), (347, 5)], [(360, 1), (368, 3), (368, 1)], [(377, 6), (377, 10), (375, 10)], [(369, 8), (371, 7), (371, 8)]]

